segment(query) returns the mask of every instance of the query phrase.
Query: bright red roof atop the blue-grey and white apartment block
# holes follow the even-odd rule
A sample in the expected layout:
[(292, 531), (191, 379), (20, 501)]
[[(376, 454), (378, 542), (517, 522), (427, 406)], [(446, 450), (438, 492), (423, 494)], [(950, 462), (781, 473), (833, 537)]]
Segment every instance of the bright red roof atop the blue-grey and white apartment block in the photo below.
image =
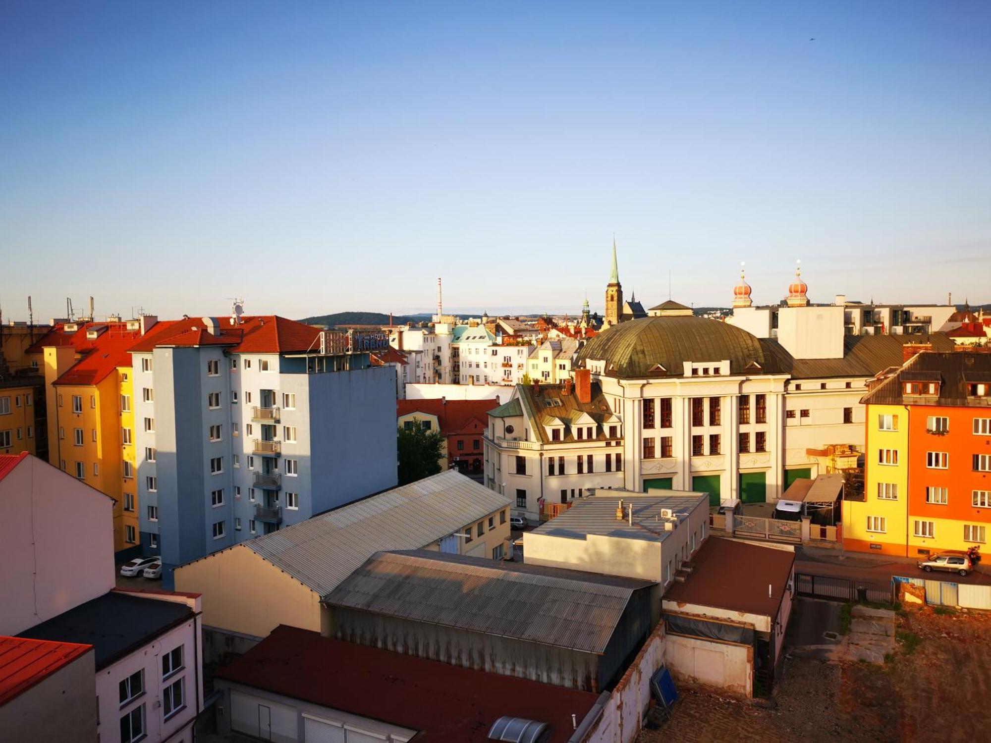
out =
[(230, 346), (237, 354), (300, 353), (316, 349), (320, 328), (287, 320), (278, 315), (244, 316), (232, 326), (226, 317), (215, 318), (219, 332), (207, 332), (203, 318), (175, 321), (167, 333), (146, 336), (131, 347), (132, 352), (149, 352), (160, 346)]

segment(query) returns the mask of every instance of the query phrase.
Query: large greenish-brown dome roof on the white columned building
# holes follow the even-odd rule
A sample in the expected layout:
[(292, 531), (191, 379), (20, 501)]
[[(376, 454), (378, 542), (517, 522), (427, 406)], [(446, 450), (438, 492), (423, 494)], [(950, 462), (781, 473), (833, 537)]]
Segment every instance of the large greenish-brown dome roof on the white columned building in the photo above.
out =
[[(578, 367), (606, 362), (606, 374), (620, 377), (684, 376), (685, 362), (729, 360), (729, 372), (782, 370), (780, 352), (745, 330), (705, 317), (644, 317), (615, 325), (578, 352)], [(658, 369), (660, 365), (663, 370)]]

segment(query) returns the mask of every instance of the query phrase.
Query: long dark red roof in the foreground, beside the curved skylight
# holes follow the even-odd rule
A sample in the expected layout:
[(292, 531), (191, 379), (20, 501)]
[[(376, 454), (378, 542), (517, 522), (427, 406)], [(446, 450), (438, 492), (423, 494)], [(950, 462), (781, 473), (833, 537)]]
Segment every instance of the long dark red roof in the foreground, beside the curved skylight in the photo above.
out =
[(487, 743), (503, 715), (546, 722), (564, 743), (598, 694), (472, 671), (321, 637), (284, 624), (215, 678), (421, 731), (430, 743)]

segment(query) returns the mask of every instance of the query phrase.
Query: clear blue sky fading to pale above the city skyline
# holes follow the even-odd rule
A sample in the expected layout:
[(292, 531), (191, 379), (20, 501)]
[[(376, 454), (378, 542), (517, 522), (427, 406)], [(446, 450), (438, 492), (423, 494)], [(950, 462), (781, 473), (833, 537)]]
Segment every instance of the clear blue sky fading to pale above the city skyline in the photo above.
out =
[[(810, 41), (815, 39), (815, 41)], [(991, 301), (991, 3), (0, 3), (4, 316)]]

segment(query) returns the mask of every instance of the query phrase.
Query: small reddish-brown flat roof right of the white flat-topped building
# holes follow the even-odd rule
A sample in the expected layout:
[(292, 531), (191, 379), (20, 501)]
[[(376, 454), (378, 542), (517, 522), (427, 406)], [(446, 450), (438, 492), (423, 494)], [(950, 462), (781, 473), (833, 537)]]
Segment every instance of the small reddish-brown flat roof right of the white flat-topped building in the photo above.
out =
[(795, 552), (710, 537), (689, 565), (692, 572), (688, 579), (668, 588), (664, 601), (774, 617), (788, 589)]

